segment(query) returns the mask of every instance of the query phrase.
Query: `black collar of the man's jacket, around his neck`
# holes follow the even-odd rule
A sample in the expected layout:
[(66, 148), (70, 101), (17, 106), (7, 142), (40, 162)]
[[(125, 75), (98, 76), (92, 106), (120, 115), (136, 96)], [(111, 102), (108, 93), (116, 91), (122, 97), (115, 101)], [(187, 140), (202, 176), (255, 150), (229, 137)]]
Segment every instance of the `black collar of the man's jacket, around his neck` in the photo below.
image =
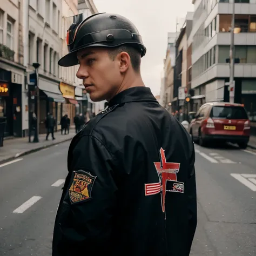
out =
[(144, 101), (154, 101), (157, 102), (156, 98), (152, 95), (149, 87), (139, 86), (126, 89), (119, 92), (114, 96), (108, 106), (113, 106), (117, 104), (127, 103), (127, 102), (144, 102)]

